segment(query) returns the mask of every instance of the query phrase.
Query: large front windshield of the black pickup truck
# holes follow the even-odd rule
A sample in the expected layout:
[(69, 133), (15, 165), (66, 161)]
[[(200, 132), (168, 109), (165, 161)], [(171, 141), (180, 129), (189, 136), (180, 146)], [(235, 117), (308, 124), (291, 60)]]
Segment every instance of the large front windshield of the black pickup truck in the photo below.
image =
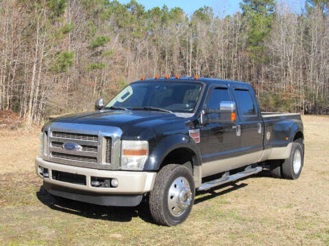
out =
[(132, 83), (106, 105), (106, 108), (165, 109), (192, 113), (197, 105), (202, 83), (150, 81)]

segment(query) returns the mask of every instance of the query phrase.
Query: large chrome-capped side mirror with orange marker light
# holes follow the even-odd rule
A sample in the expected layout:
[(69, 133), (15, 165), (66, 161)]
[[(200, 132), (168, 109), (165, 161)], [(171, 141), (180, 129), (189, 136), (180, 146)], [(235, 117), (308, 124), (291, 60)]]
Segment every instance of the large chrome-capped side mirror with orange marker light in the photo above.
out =
[[(207, 114), (218, 113), (218, 118), (206, 118)], [(205, 126), (209, 123), (235, 124), (236, 105), (235, 102), (219, 102), (219, 109), (204, 109), (201, 112), (201, 124)]]

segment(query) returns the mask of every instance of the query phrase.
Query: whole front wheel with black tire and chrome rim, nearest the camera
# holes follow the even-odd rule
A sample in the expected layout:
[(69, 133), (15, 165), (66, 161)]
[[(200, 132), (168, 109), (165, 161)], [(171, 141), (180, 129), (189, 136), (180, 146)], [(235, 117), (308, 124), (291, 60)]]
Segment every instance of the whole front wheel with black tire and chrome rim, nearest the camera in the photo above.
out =
[(191, 213), (195, 184), (191, 171), (183, 165), (169, 164), (158, 172), (149, 193), (149, 210), (156, 223), (175, 226)]

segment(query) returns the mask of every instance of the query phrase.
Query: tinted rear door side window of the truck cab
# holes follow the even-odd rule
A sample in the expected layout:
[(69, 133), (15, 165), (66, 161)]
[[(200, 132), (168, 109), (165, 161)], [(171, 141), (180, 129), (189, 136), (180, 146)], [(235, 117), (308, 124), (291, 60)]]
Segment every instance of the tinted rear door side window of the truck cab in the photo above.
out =
[(256, 115), (256, 107), (248, 90), (235, 90), (236, 103), (241, 115)]

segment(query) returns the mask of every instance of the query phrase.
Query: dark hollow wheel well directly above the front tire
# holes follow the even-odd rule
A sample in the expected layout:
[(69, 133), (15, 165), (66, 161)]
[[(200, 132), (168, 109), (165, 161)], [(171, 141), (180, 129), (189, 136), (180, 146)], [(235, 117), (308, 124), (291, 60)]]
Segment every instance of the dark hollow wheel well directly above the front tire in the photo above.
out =
[(193, 173), (193, 165), (195, 165), (196, 160), (195, 157), (196, 154), (195, 152), (193, 152), (193, 150), (189, 148), (177, 148), (169, 152), (169, 154), (164, 157), (164, 160), (162, 161), (159, 169), (168, 164), (183, 165), (186, 162), (190, 162), (191, 165), (186, 165), (186, 167), (188, 167), (188, 169), (191, 169), (191, 172)]

